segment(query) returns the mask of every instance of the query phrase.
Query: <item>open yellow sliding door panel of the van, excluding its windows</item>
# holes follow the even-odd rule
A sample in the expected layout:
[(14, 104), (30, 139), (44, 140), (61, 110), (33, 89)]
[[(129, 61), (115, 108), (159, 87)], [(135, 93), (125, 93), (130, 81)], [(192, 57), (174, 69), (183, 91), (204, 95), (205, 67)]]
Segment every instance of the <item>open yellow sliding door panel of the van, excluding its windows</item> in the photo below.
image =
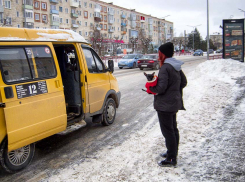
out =
[[(23, 42), (1, 42), (1, 46), (21, 46), (27, 45)], [(43, 45), (48, 46), (54, 53), (53, 45), (49, 42), (28, 42), (28, 46)], [(62, 86), (62, 79), (57, 63), (57, 58), (53, 54), (57, 76), (45, 80), (35, 80), (25, 83), (4, 83), (0, 79), (0, 92), (5, 108), (1, 108), (0, 118), (5, 118), (6, 131), (8, 136), (9, 151), (23, 147), (24, 145), (36, 142), (40, 139), (63, 131), (67, 126), (67, 115), (65, 97)], [(48, 93), (35, 96), (18, 98), (16, 86), (45, 81)], [(5, 87), (12, 87), (14, 97), (5, 97)], [(2, 116), (4, 114), (4, 116)], [(2, 129), (0, 129), (2, 130)]]

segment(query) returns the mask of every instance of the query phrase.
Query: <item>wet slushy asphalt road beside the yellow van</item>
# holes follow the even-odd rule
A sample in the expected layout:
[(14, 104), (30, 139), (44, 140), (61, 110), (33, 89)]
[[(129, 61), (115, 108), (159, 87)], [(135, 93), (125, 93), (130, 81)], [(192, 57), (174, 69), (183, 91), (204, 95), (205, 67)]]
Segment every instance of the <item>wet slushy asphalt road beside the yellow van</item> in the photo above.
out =
[[(204, 56), (176, 58), (185, 62), (183, 71), (186, 74), (206, 60)], [(151, 69), (144, 71), (153, 72)], [(103, 148), (116, 147), (129, 139), (131, 134), (142, 129), (152, 116), (147, 108), (152, 107), (153, 97), (141, 91), (146, 83), (144, 71), (138, 68), (115, 68), (114, 75), (122, 96), (115, 122), (111, 126), (92, 123), (88, 118), (87, 126), (84, 128), (39, 141), (31, 164), (16, 174), (0, 171), (0, 181), (42, 181), (43, 178), (56, 174), (60, 168), (82, 163), (88, 158), (96, 158), (96, 153)], [(157, 70), (154, 72), (158, 73)]]

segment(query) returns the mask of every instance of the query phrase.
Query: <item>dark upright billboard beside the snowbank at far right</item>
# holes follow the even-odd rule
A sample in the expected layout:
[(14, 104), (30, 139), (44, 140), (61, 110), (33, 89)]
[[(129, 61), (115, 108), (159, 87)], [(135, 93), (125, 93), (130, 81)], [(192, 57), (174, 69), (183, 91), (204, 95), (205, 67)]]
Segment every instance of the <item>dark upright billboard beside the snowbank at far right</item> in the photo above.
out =
[(223, 58), (244, 62), (244, 19), (223, 20)]

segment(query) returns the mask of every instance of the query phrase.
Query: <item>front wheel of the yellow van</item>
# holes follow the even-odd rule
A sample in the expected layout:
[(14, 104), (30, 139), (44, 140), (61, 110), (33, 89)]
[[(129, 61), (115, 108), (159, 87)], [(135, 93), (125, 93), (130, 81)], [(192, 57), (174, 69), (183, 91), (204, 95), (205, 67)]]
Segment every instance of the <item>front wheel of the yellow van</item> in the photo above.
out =
[(103, 111), (103, 121), (101, 122), (104, 126), (111, 125), (116, 117), (116, 103), (112, 98), (108, 98)]

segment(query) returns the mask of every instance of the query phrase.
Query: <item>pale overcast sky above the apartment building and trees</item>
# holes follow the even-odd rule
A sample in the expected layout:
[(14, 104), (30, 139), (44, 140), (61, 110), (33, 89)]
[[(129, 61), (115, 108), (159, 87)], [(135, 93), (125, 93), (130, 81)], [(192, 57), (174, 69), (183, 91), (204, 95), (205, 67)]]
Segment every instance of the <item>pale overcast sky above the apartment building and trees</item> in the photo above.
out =
[[(207, 0), (102, 0), (113, 2), (114, 5), (135, 9), (138, 12), (151, 14), (174, 23), (174, 36), (190, 33), (197, 26), (204, 39), (207, 36)], [(245, 0), (209, 0), (209, 34), (222, 33), (219, 28), (223, 19), (244, 18)]]

